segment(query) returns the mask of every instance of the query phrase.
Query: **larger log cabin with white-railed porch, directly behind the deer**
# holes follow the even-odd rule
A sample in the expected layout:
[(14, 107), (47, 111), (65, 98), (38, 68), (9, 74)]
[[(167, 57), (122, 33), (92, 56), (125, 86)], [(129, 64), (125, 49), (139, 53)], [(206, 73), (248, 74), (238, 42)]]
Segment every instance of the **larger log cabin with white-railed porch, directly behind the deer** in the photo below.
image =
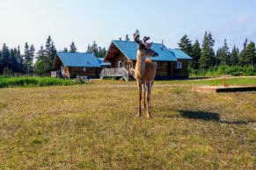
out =
[[(188, 62), (192, 58), (179, 49), (168, 49), (163, 43), (154, 43), (151, 48), (159, 55), (150, 58), (157, 63), (156, 80), (188, 78)], [(99, 77), (117, 76), (131, 80), (136, 63), (137, 44), (133, 41), (113, 40), (106, 53), (105, 62), (111, 68), (101, 71)]]

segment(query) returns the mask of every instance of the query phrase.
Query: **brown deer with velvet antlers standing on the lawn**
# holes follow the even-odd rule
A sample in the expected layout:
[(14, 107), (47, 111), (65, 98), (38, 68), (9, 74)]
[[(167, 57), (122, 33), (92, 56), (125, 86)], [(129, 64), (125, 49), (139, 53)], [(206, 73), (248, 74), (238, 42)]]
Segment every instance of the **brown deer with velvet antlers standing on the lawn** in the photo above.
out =
[[(156, 77), (157, 66), (147, 57), (157, 57), (158, 53), (151, 49), (153, 42), (147, 43), (150, 37), (140, 40), (140, 35), (135, 33), (134, 40), (138, 44), (135, 64), (135, 80), (139, 91), (139, 104), (137, 117), (142, 116), (142, 90), (143, 110), (147, 109), (147, 117), (151, 117), (151, 90)], [(147, 108), (146, 108), (147, 103)]]

